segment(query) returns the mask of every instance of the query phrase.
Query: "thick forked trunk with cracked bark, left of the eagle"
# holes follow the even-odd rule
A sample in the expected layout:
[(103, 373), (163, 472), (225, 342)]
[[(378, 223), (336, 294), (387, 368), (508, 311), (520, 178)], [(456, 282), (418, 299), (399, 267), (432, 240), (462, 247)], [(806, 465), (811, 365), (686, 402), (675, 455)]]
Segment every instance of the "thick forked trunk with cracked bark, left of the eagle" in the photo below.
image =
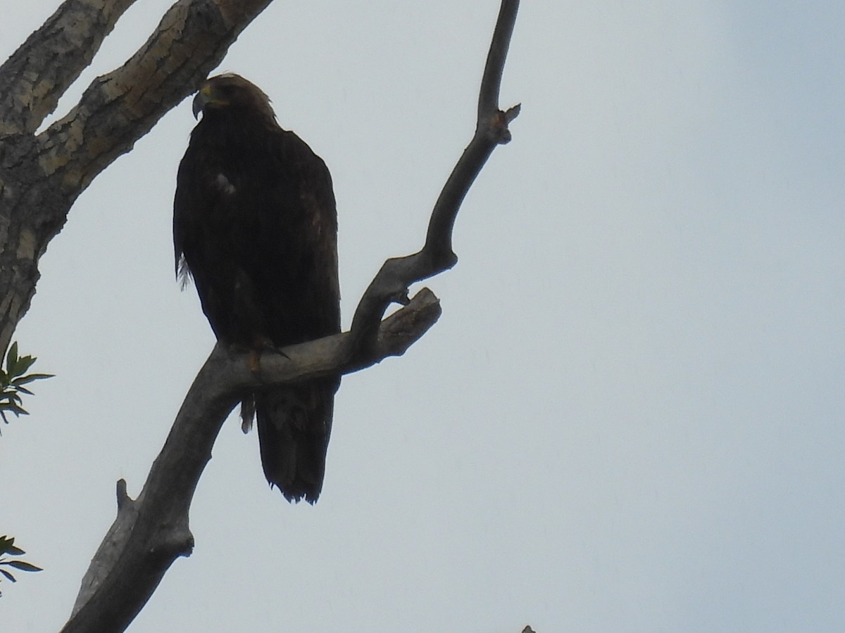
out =
[[(63, 65), (67, 46), (99, 47), (130, 0), (68, 0), (0, 67), (0, 351), (29, 309), (38, 260), (79, 194), (196, 90), (269, 3), (179, 0), (123, 67), (96, 78), (68, 116), (37, 136), (95, 49), (74, 48), (67, 69), (48, 67)], [(91, 32), (80, 35), (83, 27)]]

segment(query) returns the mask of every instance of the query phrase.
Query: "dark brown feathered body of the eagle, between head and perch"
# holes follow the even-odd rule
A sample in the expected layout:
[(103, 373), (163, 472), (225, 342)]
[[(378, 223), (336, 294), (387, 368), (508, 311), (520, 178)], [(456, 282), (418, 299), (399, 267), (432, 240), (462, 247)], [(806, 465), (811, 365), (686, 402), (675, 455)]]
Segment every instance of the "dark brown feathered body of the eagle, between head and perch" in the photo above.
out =
[(194, 279), (217, 337), (246, 347), (340, 329), (329, 170), (296, 134), (270, 132), (243, 160), (192, 139), (177, 176), (177, 273)]

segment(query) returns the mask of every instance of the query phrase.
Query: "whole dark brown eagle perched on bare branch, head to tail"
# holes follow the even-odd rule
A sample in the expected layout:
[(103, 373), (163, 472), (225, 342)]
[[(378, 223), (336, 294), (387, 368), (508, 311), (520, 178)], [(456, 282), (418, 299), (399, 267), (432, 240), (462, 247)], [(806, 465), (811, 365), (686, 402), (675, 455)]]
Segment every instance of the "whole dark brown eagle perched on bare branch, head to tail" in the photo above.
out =
[[(179, 164), (173, 243), (177, 275), (194, 279), (217, 339), (259, 354), (340, 332), (337, 213), (323, 160), (238, 75), (208, 79), (194, 98), (200, 111)], [(243, 397), (244, 430), (254, 416), (264, 475), (287, 500), (319, 496), (339, 384)]]

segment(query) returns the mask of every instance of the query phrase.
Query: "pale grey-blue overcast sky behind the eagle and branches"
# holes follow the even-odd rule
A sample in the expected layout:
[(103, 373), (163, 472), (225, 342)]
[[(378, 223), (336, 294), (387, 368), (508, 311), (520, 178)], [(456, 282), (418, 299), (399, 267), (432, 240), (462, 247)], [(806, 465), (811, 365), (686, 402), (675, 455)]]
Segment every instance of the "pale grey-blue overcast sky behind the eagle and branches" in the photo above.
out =
[[(57, 2), (6, 3), (3, 57)], [(63, 100), (168, 6), (138, 2)], [(472, 137), (496, 0), (277, 0), (221, 70), (329, 165), (344, 326)], [(514, 140), (466, 197), (439, 323), (347, 376), (323, 494), (229, 420), (194, 555), (129, 630), (845, 629), (845, 4), (526, 0)], [(57, 374), (0, 437), (0, 533), (57, 630), (214, 343), (173, 279), (177, 106), (79, 197), (16, 338)]]

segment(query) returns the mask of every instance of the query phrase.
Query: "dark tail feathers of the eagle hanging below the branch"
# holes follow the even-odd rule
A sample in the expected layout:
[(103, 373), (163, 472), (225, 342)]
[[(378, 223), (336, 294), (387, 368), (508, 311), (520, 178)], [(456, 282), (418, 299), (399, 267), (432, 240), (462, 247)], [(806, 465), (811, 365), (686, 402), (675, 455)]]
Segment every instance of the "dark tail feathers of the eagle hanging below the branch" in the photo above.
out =
[(337, 381), (309, 381), (254, 395), (264, 476), (286, 500), (319, 497), (336, 389)]

